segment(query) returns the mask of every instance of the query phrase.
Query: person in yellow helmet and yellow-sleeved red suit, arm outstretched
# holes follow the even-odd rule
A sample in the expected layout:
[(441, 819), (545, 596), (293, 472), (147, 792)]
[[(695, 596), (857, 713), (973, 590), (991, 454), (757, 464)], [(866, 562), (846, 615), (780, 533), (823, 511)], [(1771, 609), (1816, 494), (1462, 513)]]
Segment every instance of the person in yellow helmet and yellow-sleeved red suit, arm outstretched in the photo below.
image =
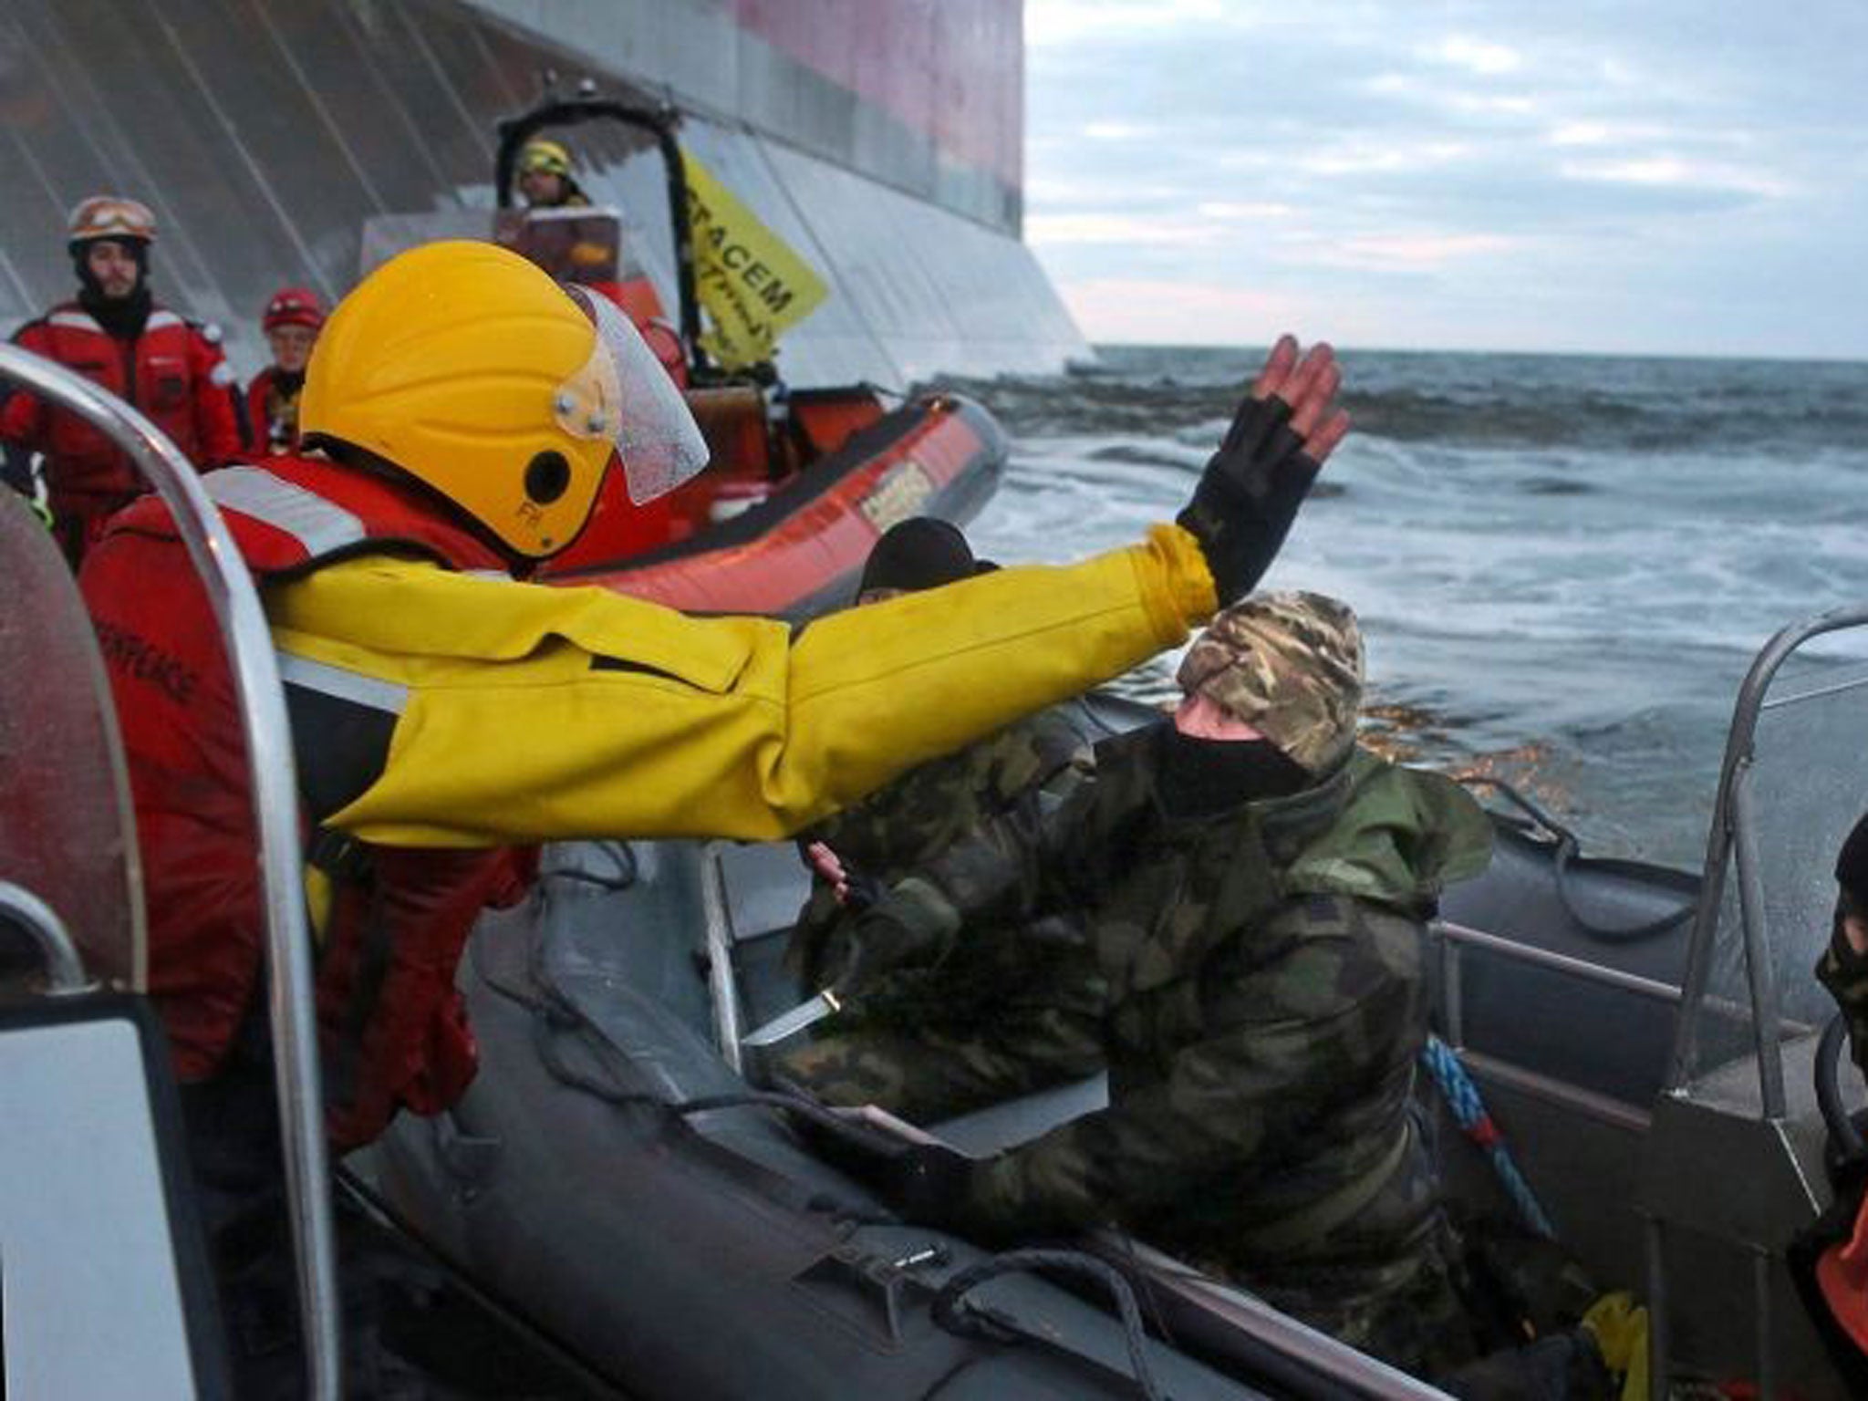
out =
[[(1179, 643), (1276, 555), (1347, 430), (1337, 381), (1328, 346), (1281, 340), (1179, 525), (1143, 544), (794, 635), (523, 583), (613, 460), (648, 501), (704, 463), (699, 430), (620, 312), (506, 248), (437, 243), (372, 273), (306, 366), (301, 452), (205, 478), (288, 687), (334, 1145), (465, 1089), (454, 968), (478, 910), (523, 889), (516, 844), (788, 835)], [(278, 1181), (230, 680), (157, 499), (80, 587), (125, 717), (151, 994), (228, 1227), (276, 1210)]]

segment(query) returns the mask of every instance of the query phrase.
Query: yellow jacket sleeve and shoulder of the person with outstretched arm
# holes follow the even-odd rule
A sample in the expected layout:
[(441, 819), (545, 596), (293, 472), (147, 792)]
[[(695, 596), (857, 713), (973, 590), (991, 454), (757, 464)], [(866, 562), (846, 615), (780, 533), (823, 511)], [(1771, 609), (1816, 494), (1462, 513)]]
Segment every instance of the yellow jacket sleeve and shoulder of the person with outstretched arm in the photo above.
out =
[(327, 826), (387, 846), (773, 839), (1115, 676), (1214, 607), (1179, 527), (792, 633), (370, 555), (267, 590), (288, 680), (398, 712)]

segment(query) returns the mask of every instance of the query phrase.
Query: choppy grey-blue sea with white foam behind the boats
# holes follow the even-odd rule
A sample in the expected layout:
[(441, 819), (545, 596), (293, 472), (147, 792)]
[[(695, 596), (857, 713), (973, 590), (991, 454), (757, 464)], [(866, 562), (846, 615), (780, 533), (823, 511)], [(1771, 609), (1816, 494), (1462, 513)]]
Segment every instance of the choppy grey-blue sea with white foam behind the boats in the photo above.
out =
[[(1119, 346), (968, 385), (1014, 439), (975, 547), (1067, 560), (1166, 519), (1261, 359)], [(1354, 432), (1265, 583), (1360, 613), (1373, 738), (1521, 785), (1590, 854), (1698, 867), (1752, 656), (1791, 620), (1868, 605), (1868, 364), (1343, 366)], [(1126, 689), (1171, 697), (1173, 661)]]

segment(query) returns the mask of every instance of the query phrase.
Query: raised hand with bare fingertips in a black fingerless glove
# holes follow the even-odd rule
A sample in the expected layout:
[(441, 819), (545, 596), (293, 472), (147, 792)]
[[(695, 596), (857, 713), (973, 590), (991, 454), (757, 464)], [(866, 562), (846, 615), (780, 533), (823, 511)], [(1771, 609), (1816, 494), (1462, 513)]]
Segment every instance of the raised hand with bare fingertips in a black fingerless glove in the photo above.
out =
[(1270, 568), (1317, 471), (1349, 432), (1349, 415), (1336, 407), (1341, 385), (1328, 342), (1300, 353), (1295, 336), (1280, 336), (1175, 517), (1199, 542), (1222, 607)]

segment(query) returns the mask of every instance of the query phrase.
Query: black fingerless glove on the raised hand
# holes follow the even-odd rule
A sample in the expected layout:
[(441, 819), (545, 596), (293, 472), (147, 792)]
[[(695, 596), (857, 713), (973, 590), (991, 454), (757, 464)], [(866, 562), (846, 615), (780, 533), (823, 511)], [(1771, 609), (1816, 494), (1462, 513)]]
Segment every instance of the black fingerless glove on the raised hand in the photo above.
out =
[(1220, 607), (1252, 592), (1278, 557), (1319, 465), (1281, 398), (1246, 398), (1194, 499), (1175, 519), (1199, 542)]

